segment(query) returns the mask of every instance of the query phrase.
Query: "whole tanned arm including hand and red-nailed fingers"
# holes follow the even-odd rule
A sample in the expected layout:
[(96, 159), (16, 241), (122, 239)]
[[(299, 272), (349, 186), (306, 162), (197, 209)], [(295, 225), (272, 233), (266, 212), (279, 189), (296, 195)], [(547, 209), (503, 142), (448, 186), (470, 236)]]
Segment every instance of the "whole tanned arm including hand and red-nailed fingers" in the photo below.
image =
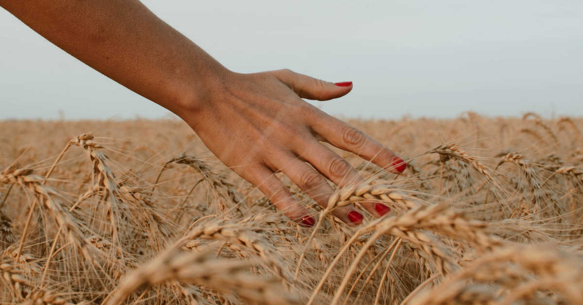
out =
[[(223, 163), (303, 225), (314, 219), (275, 171), (322, 206), (333, 191), (326, 178), (340, 186), (363, 181), (319, 141), (394, 173), (405, 170), (390, 149), (301, 99), (343, 96), (352, 90), (350, 82), (324, 82), (287, 69), (231, 72), (135, 0), (0, 0), (0, 5), (80, 61), (180, 116)], [(388, 211), (374, 202), (363, 206), (375, 216)], [(362, 220), (352, 205), (333, 213), (349, 225)]]

